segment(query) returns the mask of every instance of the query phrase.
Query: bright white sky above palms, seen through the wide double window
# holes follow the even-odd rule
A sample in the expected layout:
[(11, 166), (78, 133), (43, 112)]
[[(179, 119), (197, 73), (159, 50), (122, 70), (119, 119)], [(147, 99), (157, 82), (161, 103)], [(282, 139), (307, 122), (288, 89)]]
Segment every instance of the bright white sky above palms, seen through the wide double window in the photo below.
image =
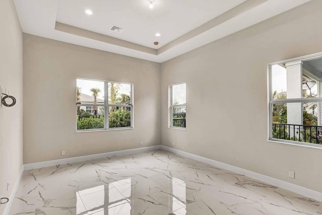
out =
[[(92, 88), (99, 88), (101, 92), (98, 95), (98, 98), (104, 99), (104, 82), (102, 81), (94, 81), (94, 80), (86, 80), (86, 79), (77, 79), (76, 80), (76, 86), (79, 88), (82, 88), (81, 93), (87, 94), (87, 95), (92, 95), (93, 93), (91, 92)], [(129, 84), (121, 84), (121, 88), (119, 90), (119, 94), (127, 94), (130, 95), (131, 91), (131, 85)]]

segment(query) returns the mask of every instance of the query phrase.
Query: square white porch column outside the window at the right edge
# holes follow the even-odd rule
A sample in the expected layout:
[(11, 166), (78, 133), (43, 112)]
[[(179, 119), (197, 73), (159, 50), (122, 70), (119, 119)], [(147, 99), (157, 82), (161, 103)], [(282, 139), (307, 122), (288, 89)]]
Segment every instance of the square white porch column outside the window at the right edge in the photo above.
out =
[[(294, 61), (285, 64), (287, 74), (287, 99), (302, 98), (302, 61)], [(303, 124), (302, 103), (287, 104), (287, 124)], [(290, 127), (289, 135), (294, 136), (293, 127)], [(300, 130), (295, 126), (295, 136), (300, 137)]]

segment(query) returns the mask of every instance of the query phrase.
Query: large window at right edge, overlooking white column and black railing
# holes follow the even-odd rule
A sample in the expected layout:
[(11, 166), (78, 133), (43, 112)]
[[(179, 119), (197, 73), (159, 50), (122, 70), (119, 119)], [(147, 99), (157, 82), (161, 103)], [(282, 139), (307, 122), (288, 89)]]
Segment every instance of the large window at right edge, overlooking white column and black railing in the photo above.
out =
[(269, 139), (322, 147), (322, 55), (269, 65)]

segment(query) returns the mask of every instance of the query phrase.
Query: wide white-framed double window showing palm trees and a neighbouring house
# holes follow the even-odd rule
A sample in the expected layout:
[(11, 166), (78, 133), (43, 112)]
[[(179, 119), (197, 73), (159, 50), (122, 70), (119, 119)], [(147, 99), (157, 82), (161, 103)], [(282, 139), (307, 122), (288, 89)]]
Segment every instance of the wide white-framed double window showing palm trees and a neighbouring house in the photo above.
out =
[(77, 79), (77, 130), (132, 128), (132, 95), (132, 84)]

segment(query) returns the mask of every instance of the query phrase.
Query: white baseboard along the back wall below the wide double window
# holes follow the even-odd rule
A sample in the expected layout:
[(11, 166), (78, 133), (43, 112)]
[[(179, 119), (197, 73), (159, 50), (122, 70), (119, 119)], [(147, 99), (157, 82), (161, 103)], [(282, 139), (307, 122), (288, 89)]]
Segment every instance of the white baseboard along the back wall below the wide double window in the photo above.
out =
[(90, 160), (96, 160), (96, 159), (106, 158), (106, 157), (111, 157), (116, 155), (128, 155), (131, 153), (140, 153), (140, 152), (146, 152), (146, 151), (157, 150), (157, 149), (160, 149), (160, 145), (151, 146), (151, 147), (142, 147), (142, 148), (136, 148), (136, 149), (130, 149), (130, 150), (122, 150), (122, 151), (116, 151), (116, 152), (101, 153), (101, 154), (95, 154), (95, 155), (65, 158), (65, 159), (59, 159), (59, 160), (53, 160), (53, 161), (44, 161), (44, 162), (38, 162), (38, 163), (32, 163), (32, 164), (25, 164), (24, 170), (51, 167), (55, 165), (68, 164), (68, 163), (70, 164), (70, 163), (82, 162), (82, 161), (90, 161)]

